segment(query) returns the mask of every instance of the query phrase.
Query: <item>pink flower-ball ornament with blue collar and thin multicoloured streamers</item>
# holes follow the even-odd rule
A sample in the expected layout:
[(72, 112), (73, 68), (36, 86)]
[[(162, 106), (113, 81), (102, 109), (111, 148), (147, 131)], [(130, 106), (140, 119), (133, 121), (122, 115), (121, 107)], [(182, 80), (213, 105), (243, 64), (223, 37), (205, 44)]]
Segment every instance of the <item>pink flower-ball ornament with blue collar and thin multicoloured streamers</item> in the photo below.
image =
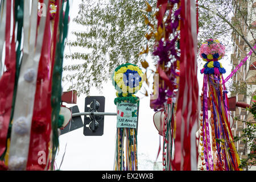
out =
[[(200, 48), (200, 57), (207, 61), (201, 69), (201, 73), (204, 73), (201, 98), (203, 101), (200, 128), (201, 160), (209, 171), (240, 170), (238, 168), (240, 159), (233, 143), (229, 123), (228, 96), (223, 84), (222, 74), (226, 71), (218, 62), (224, 55), (225, 46), (218, 40), (208, 39)], [(210, 108), (209, 117), (208, 108)]]

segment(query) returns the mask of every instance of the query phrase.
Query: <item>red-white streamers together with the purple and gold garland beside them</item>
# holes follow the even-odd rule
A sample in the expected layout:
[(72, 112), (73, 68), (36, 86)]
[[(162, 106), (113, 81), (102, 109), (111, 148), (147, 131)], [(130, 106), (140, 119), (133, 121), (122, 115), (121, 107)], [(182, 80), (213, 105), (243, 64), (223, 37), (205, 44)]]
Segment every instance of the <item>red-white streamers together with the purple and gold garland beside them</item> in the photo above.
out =
[[(156, 3), (153, 55), (158, 56), (158, 98), (154, 110), (163, 110), (163, 170), (197, 169), (196, 131), (200, 100), (197, 82), (196, 3), (161, 0)], [(146, 19), (146, 18), (145, 18)], [(160, 150), (159, 150), (160, 151)], [(159, 153), (158, 153), (159, 154)]]

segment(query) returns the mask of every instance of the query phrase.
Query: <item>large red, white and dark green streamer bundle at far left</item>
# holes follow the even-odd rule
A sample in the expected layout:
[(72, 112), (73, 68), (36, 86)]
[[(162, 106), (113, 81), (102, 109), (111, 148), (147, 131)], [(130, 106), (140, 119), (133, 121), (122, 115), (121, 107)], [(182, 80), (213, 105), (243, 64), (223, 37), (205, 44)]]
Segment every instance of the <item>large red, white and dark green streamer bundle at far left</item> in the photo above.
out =
[(0, 52), (6, 43), (6, 69), (0, 72), (5, 88), (0, 90), (0, 169), (49, 169), (49, 151), (53, 164), (63, 122), (59, 108), (69, 1), (1, 1), (0, 10)]

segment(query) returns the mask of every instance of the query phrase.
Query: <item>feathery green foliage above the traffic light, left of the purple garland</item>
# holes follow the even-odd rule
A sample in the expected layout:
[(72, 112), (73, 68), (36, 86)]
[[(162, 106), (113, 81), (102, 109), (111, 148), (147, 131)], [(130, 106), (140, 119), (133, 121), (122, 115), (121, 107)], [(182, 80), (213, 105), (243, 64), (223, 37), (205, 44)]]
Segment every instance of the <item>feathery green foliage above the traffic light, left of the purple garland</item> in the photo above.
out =
[(138, 64), (139, 51), (146, 44), (143, 44), (146, 26), (141, 11), (145, 8), (143, 1), (135, 0), (82, 1), (79, 14), (73, 21), (88, 31), (72, 32), (76, 40), (67, 44), (82, 47), (88, 53), (65, 55), (66, 59), (84, 60), (84, 63), (64, 67), (64, 71), (76, 72), (64, 80), (77, 81), (73, 89), (78, 95), (89, 94), (91, 86), (100, 89), (102, 82), (110, 78), (118, 65)]

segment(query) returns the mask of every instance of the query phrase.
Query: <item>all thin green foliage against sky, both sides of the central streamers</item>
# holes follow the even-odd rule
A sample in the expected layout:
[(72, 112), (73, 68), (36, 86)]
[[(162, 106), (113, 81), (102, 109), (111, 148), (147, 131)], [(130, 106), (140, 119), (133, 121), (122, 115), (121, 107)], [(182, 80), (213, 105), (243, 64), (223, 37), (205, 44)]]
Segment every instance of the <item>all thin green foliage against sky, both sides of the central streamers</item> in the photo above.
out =
[[(247, 15), (245, 8), (238, 8), (237, 1), (198, 1), (198, 47), (208, 38), (215, 38), (222, 40), (226, 51), (232, 49), (232, 44), (224, 40), (230, 38), (231, 32), (238, 32), (239, 36), (243, 36), (242, 26), (236, 21), (237, 18), (242, 17), (249, 22), (251, 18), (251, 15)], [(154, 14), (157, 0), (147, 0), (147, 2), (152, 6), (152, 14)], [(250, 2), (250, 0), (243, 0), (243, 2)], [(145, 13), (141, 11), (144, 9), (146, 9), (146, 3), (139, 0), (82, 1), (78, 15), (73, 22), (84, 26), (86, 31), (72, 32), (76, 40), (68, 42), (67, 45), (82, 48), (85, 51), (65, 55), (65, 59), (72, 59), (74, 63), (74, 65), (67, 65), (63, 68), (65, 72), (68, 72), (63, 80), (74, 81), (72, 88), (69, 89), (76, 89), (78, 96), (81, 93), (89, 94), (91, 86), (96, 86), (101, 90), (102, 83), (109, 80), (114, 68), (118, 65), (124, 63), (140, 65), (139, 61), (142, 57), (139, 56), (139, 52), (146, 45), (144, 35), (150, 28), (144, 24), (143, 14)], [(237, 17), (232, 21), (235, 10)], [(156, 19), (152, 18), (152, 14), (148, 17), (155, 25)], [(254, 34), (249, 27), (247, 30), (252, 35)], [(152, 52), (153, 39), (150, 39), (148, 46), (149, 52)], [(155, 61), (155, 57), (152, 59)], [(82, 60), (84, 63), (76, 64), (76, 60)]]

